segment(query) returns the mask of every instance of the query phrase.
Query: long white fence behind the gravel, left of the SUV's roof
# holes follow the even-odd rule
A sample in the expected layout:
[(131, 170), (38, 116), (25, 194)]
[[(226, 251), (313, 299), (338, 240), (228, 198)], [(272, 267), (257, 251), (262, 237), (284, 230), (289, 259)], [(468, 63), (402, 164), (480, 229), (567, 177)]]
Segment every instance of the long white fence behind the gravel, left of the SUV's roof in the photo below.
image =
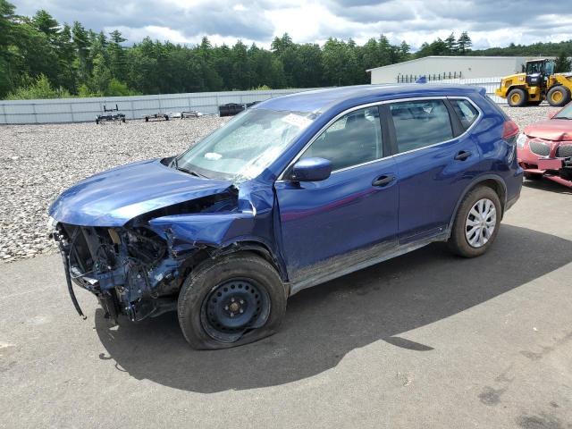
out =
[(264, 101), (268, 98), (309, 89), (199, 92), (135, 97), (0, 100), (0, 124), (90, 122), (96, 120), (97, 114), (102, 114), (104, 105), (107, 108), (117, 105), (127, 119), (140, 119), (145, 114), (187, 112), (190, 110), (197, 110), (204, 114), (218, 114), (219, 105)]

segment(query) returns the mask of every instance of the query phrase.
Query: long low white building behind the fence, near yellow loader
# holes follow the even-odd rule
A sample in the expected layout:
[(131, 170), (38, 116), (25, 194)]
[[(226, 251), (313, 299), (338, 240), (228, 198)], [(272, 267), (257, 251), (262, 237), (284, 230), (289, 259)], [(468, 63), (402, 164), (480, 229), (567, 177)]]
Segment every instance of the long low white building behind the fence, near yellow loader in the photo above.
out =
[(425, 56), (403, 63), (369, 69), (372, 83), (410, 82), (427, 76), (429, 80), (496, 78), (519, 73), (524, 56)]

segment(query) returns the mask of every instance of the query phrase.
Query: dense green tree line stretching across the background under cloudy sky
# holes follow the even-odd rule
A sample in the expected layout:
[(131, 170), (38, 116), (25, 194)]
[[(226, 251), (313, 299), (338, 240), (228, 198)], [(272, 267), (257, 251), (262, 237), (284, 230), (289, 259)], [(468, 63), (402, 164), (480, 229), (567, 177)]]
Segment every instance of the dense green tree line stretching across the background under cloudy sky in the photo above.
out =
[[(572, 50), (560, 44), (471, 49), (463, 32), (424, 43), (415, 53), (407, 42), (381, 35), (364, 45), (329, 38), (323, 46), (295, 43), (288, 34), (270, 49), (238, 40), (213, 46), (208, 38), (187, 46), (144, 38), (125, 46), (121, 32), (59, 23), (39, 10), (18, 15), (0, 0), (0, 98), (49, 98), (171, 94), (251, 88), (317, 88), (368, 83), (367, 69), (426, 55), (528, 55)], [(533, 54), (535, 55), (535, 54)]]

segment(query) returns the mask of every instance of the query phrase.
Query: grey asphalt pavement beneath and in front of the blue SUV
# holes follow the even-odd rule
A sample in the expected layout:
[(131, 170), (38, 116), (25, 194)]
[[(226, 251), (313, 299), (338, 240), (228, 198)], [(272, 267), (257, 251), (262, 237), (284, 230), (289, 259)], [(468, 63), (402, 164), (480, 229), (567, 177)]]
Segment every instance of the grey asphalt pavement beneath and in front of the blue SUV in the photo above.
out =
[(572, 427), (572, 196), (526, 182), (484, 257), (431, 246), (197, 352), (175, 315), (111, 328), (60, 260), (0, 265), (0, 426)]

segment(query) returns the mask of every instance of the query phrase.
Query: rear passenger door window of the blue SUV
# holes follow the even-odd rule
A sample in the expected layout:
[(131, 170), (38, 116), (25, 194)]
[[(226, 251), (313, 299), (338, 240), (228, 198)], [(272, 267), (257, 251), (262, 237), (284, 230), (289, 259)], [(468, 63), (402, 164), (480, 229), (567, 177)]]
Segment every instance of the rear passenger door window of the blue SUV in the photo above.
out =
[(449, 110), (442, 100), (395, 103), (390, 110), (399, 153), (453, 138)]

